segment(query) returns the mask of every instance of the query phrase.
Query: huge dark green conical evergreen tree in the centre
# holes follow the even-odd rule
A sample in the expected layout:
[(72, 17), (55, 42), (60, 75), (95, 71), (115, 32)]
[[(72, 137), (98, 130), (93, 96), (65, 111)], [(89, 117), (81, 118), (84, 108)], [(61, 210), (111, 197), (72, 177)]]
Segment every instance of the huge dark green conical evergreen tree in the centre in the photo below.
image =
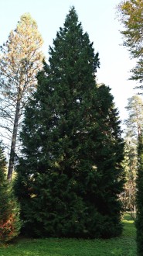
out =
[(96, 83), (99, 64), (72, 7), (26, 106), (15, 180), (24, 234), (121, 234), (124, 145), (110, 88)]

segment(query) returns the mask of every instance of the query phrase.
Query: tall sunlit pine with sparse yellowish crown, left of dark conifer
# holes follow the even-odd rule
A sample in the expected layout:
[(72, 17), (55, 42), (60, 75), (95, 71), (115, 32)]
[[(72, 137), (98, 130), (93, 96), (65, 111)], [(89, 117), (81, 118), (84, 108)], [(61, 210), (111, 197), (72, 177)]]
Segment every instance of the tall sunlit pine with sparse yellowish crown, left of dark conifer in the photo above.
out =
[(12, 179), (19, 119), (27, 97), (36, 86), (36, 74), (42, 68), (43, 45), (36, 22), (29, 13), (21, 16), (9, 40), (1, 47), (0, 90), (2, 133), (11, 141), (8, 179)]

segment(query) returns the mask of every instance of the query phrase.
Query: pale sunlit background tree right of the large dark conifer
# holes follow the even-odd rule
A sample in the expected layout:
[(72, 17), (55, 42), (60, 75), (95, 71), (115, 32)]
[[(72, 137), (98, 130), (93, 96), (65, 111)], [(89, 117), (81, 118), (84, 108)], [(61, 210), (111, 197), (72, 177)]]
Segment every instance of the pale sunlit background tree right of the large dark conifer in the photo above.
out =
[[(141, 96), (134, 95), (128, 99), (128, 118), (125, 119), (124, 133), (124, 170), (126, 182), (124, 192), (121, 193), (121, 200), (124, 202), (124, 209), (135, 213), (135, 195), (136, 195), (136, 175), (138, 168), (138, 137), (143, 127), (143, 101)], [(133, 213), (134, 212), (134, 213)]]

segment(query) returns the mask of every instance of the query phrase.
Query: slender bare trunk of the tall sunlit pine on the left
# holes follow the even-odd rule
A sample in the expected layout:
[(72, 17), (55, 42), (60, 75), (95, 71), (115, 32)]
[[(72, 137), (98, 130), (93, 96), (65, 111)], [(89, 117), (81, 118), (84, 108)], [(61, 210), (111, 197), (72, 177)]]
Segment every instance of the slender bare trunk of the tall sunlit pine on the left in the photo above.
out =
[(12, 181), (12, 172), (13, 172), (14, 161), (15, 161), (15, 146), (16, 146), (18, 127), (19, 127), (20, 103), (21, 103), (21, 97), (18, 97), (17, 103), (16, 103), (15, 121), (13, 126), (12, 144), (11, 144), (10, 157), (9, 157), (9, 169), (8, 169), (8, 176), (7, 176), (9, 182)]

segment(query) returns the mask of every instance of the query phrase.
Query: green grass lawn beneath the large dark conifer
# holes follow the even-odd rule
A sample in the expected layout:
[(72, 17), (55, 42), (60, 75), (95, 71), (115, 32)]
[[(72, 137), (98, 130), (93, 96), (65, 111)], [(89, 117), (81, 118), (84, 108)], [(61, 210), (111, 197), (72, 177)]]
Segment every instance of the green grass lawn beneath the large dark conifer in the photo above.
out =
[(18, 239), (15, 244), (0, 247), (1, 256), (135, 256), (135, 227), (129, 215), (124, 216), (124, 232), (110, 240)]

